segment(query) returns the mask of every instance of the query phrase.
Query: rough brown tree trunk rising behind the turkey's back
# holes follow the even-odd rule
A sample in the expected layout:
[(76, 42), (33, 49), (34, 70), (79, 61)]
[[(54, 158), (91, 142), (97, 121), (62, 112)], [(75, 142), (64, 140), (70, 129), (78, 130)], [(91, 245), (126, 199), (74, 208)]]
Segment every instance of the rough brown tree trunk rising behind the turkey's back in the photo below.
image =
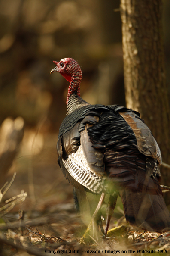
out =
[[(162, 0), (121, 0), (124, 83), (128, 108), (140, 112), (170, 164), (170, 106), (165, 80)], [(161, 168), (170, 186), (170, 170)], [(167, 196), (170, 203), (170, 194)]]

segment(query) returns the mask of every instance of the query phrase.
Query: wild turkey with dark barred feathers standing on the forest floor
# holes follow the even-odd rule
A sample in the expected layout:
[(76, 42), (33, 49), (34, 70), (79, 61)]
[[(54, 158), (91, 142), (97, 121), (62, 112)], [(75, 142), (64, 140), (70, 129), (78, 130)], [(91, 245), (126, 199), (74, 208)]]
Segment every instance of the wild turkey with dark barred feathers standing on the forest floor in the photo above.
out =
[(82, 71), (71, 58), (53, 61), (70, 82), (67, 116), (57, 143), (58, 163), (67, 181), (77, 191), (101, 194), (93, 220), (100, 225), (99, 210), (106, 194), (105, 236), (118, 195), (132, 225), (160, 232), (170, 227), (170, 214), (158, 183), (161, 152), (140, 114), (123, 106), (91, 105), (80, 97)]

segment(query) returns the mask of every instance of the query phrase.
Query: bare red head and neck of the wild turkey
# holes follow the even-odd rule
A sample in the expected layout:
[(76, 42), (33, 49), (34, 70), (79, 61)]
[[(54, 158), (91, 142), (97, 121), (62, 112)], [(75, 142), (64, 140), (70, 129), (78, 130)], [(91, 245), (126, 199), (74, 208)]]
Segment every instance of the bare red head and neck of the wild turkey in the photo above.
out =
[(67, 81), (70, 82), (68, 95), (67, 95), (67, 103), (69, 97), (76, 93), (80, 96), (80, 82), (82, 80), (82, 70), (76, 60), (72, 58), (61, 59), (60, 62), (53, 61), (56, 65), (54, 69), (50, 72), (59, 72)]

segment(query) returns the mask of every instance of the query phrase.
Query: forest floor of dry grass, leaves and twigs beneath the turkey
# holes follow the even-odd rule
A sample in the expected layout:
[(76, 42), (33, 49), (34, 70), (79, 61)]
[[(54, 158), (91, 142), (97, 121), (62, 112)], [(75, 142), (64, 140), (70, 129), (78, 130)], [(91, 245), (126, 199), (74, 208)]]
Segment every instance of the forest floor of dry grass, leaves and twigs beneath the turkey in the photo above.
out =
[[(9, 182), (17, 172), (13, 183), (5, 193), (7, 184), (0, 190), (0, 256), (170, 255), (170, 232), (160, 234), (129, 226), (120, 198), (109, 226), (115, 229), (108, 237), (98, 242), (90, 235), (83, 239), (90, 217), (77, 215), (73, 207), (73, 188), (57, 163), (57, 135), (43, 140), (43, 148), (34, 154), (30, 153), (33, 149), (25, 150), (28, 145), (22, 147), (9, 170)], [(88, 200), (95, 208), (98, 197), (88, 195)]]

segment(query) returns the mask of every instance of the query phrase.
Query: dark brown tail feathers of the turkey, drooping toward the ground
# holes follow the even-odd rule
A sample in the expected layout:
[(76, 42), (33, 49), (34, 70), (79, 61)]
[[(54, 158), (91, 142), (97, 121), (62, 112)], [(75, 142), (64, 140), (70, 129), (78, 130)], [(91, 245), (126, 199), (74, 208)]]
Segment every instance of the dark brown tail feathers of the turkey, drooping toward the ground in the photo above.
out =
[(161, 194), (134, 193), (126, 189), (120, 191), (120, 196), (130, 224), (157, 232), (170, 227), (170, 213)]

